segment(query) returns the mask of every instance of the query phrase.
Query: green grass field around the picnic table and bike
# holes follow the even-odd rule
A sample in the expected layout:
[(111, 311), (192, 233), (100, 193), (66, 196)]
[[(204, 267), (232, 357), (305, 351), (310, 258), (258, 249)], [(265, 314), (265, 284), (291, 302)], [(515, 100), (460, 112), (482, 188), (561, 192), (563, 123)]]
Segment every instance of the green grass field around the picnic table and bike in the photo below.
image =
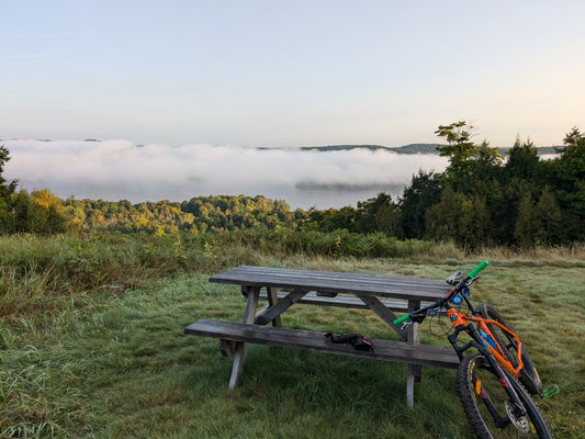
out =
[[(555, 438), (585, 431), (583, 251), (486, 250), (387, 259), (283, 256), (172, 239), (0, 238), (0, 437), (469, 438), (454, 371), (424, 368), (415, 408), (406, 367), (251, 346), (240, 385), (216, 339), (184, 336), (199, 318), (238, 322), (237, 288), (209, 277), (239, 263), (446, 278), (491, 266), (472, 299), (522, 336), (545, 385)], [(357, 309), (299, 305), (288, 327), (393, 337)], [(437, 328), (435, 328), (437, 329)], [(445, 345), (426, 324), (421, 337)]]

